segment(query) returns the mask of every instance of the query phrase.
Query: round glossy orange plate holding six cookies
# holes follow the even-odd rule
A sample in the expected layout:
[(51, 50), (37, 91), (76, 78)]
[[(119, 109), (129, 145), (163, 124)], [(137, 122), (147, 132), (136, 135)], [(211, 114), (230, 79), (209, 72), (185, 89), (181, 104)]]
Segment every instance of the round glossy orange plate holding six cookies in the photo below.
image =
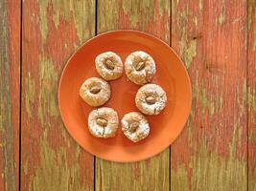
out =
[[(158, 116), (147, 116), (151, 126), (149, 137), (137, 143), (128, 140), (121, 127), (115, 138), (94, 138), (87, 128), (88, 114), (94, 108), (82, 101), (79, 89), (85, 79), (99, 76), (94, 60), (107, 51), (118, 53), (123, 62), (134, 51), (150, 53), (156, 63), (152, 83), (159, 84), (167, 93), (164, 111)], [(111, 97), (104, 106), (116, 110), (120, 118), (138, 111), (134, 96), (140, 86), (128, 81), (126, 74), (110, 81), (110, 86)], [(102, 159), (136, 161), (158, 154), (177, 138), (189, 115), (191, 84), (182, 61), (163, 41), (144, 32), (105, 32), (87, 41), (67, 62), (59, 81), (58, 105), (67, 130), (82, 148)]]

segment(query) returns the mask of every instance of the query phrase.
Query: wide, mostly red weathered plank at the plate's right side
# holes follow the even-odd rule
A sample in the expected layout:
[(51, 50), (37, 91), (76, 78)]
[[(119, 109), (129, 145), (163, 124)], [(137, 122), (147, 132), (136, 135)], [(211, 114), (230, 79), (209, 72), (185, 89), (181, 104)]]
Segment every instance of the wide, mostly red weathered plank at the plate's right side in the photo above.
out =
[(246, 190), (246, 1), (172, 3), (172, 46), (193, 86), (172, 145), (173, 190)]

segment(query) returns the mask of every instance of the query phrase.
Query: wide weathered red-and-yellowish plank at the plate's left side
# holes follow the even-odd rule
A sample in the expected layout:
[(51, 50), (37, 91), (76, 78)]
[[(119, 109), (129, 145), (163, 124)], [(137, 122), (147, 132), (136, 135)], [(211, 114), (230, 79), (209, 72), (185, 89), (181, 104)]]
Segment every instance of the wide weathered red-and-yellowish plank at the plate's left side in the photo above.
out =
[(23, 0), (22, 190), (93, 190), (94, 159), (58, 112), (65, 62), (95, 34), (95, 1)]

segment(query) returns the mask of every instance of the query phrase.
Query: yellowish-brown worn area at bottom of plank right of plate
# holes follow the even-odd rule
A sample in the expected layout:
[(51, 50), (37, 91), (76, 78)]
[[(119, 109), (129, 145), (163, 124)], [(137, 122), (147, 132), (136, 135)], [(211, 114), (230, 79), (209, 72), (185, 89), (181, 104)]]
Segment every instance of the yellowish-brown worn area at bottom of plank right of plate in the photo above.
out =
[[(232, 140), (227, 148), (228, 157), (221, 156), (217, 150), (209, 150), (206, 137), (198, 138), (197, 151), (192, 153), (188, 167), (178, 162), (175, 169), (172, 169), (172, 190), (181, 190), (179, 188), (207, 191), (230, 190), (230, 185), (236, 188), (235, 190), (244, 190), (246, 188), (246, 159), (238, 157), (236, 150), (237, 145), (243, 144), (242, 129), (243, 126), (238, 120), (234, 124)], [(191, 132), (189, 132), (189, 145), (195, 145)], [(188, 170), (192, 172), (189, 173)]]

